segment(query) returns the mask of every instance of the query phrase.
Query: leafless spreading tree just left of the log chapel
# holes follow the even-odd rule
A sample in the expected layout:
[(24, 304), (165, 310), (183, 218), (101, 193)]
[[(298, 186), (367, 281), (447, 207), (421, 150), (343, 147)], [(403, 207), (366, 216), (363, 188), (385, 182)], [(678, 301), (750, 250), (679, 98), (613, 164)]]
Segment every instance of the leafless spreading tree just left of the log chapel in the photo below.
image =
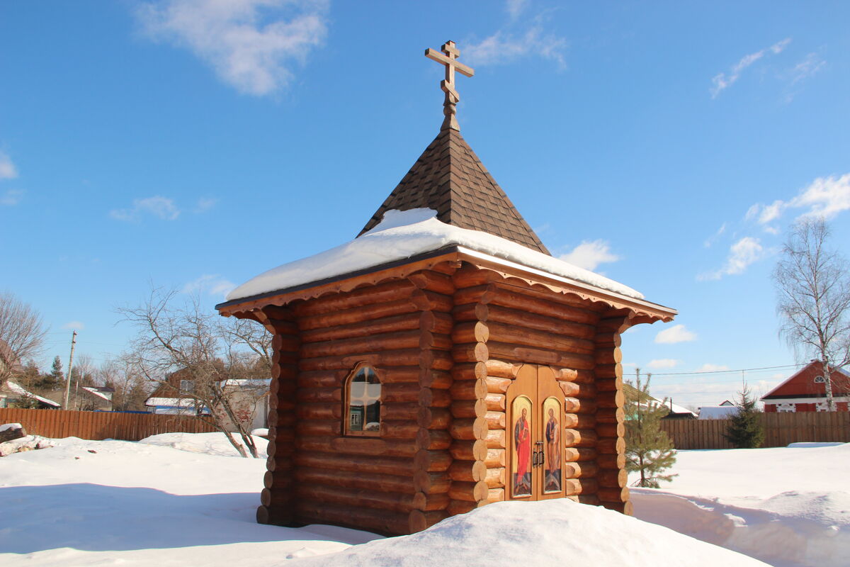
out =
[(244, 397), (251, 388), (241, 384), (256, 386), (259, 378), (269, 378), (268, 333), (259, 326), (255, 332), (244, 324), (222, 324), (218, 314), (201, 309), (198, 296), (181, 301), (178, 292), (161, 288), (138, 307), (116, 310), (138, 331), (129, 354), (133, 370), (151, 383), (175, 388), (181, 400), (191, 400), (196, 417), (224, 433), (241, 456), (247, 456), (246, 448), (258, 456), (250, 423), (237, 416), (235, 394)]

